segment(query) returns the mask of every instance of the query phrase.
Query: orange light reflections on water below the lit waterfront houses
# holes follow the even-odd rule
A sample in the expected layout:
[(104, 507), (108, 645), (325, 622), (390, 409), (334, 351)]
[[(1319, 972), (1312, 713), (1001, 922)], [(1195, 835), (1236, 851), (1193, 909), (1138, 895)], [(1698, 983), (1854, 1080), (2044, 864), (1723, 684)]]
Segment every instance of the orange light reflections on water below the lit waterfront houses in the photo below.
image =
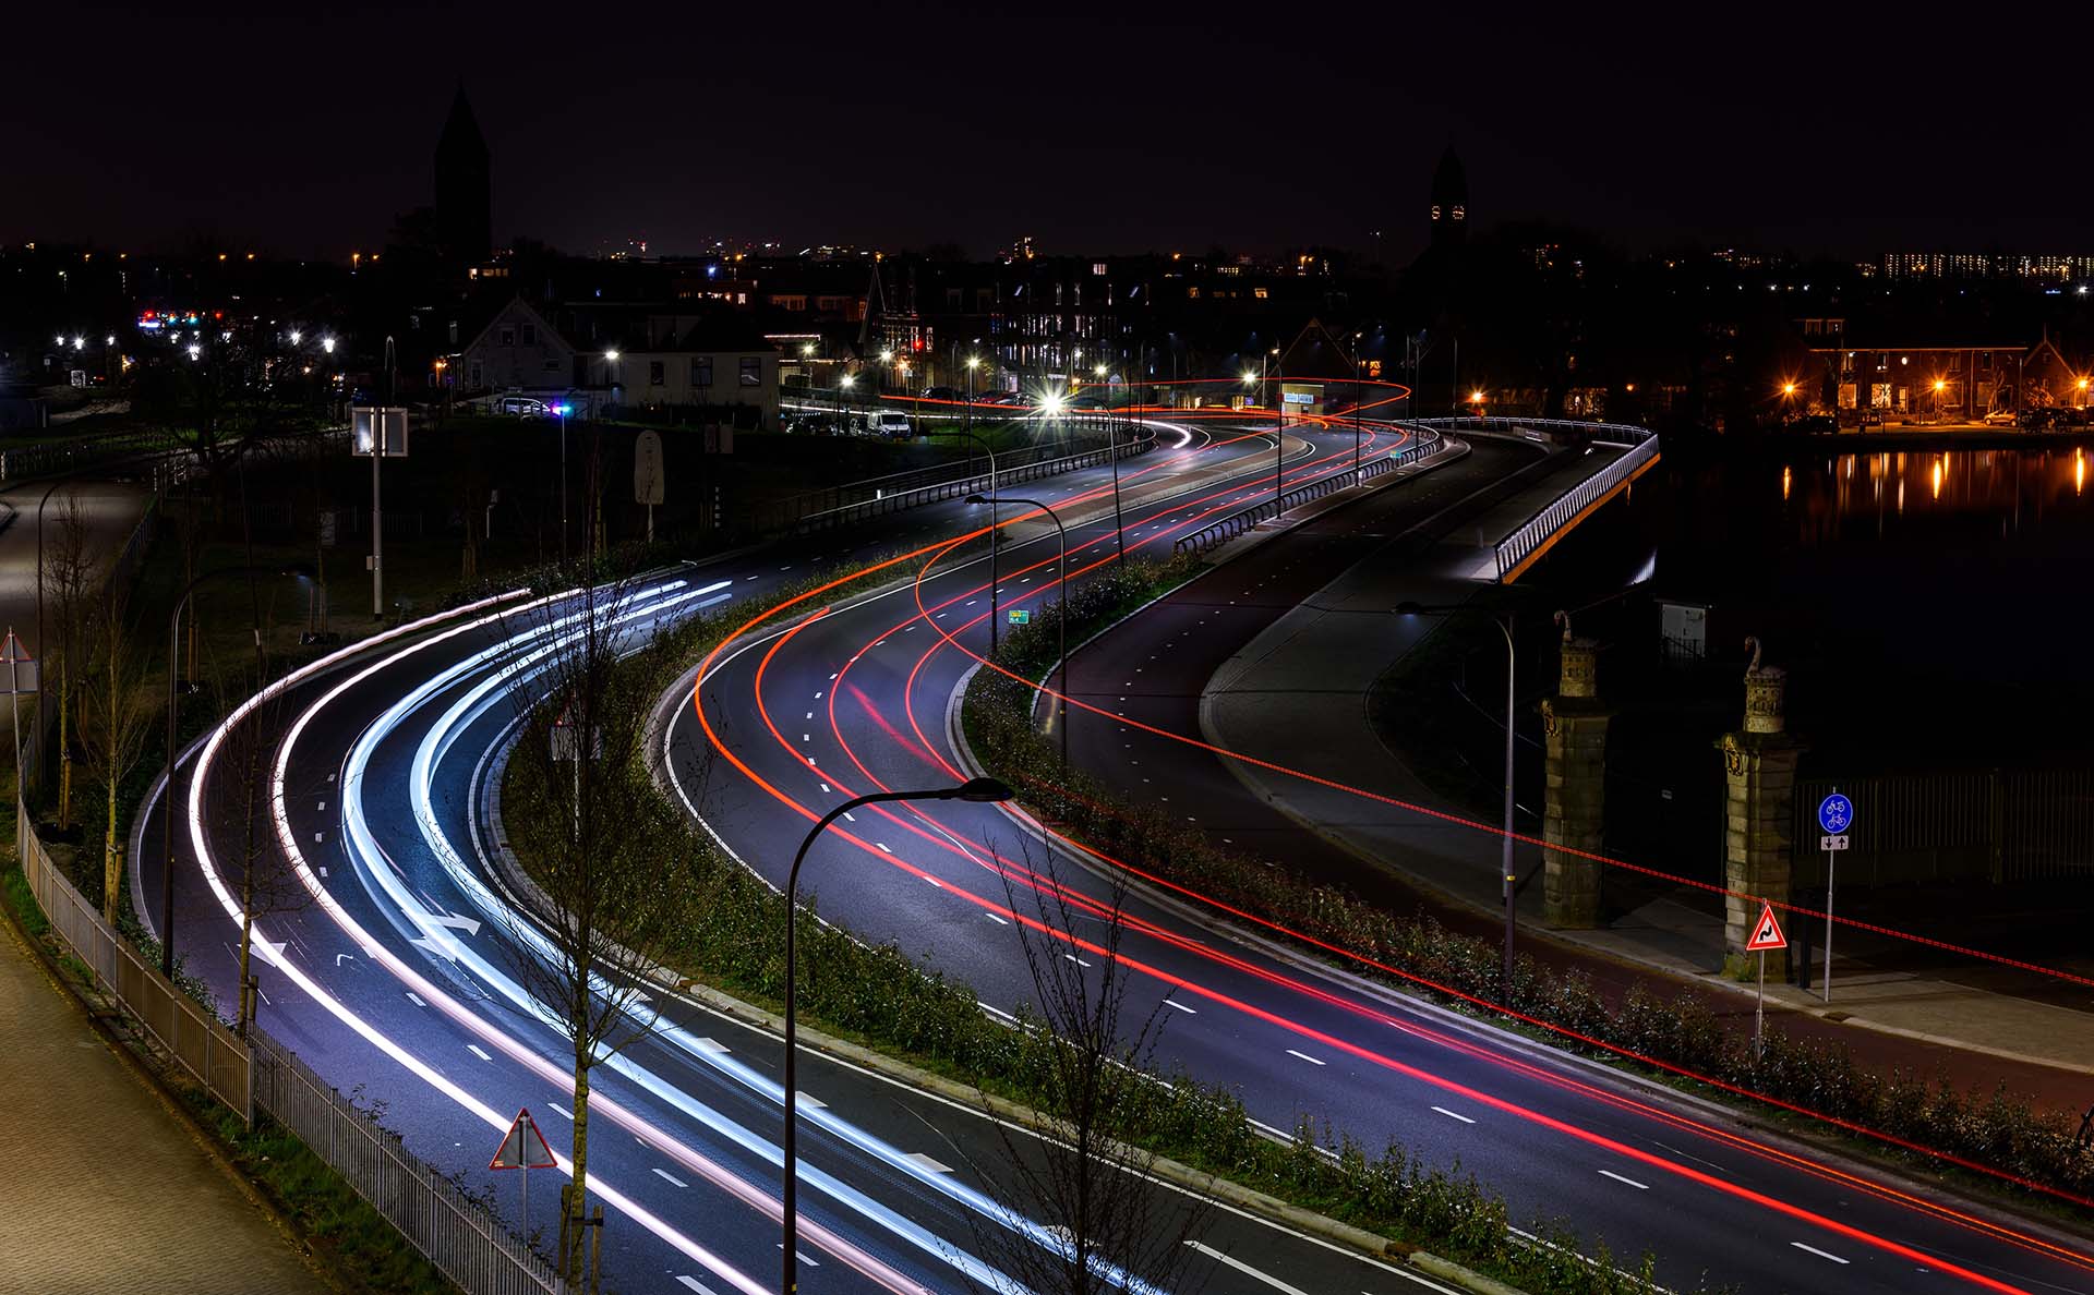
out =
[(1805, 544), (1929, 533), (2094, 538), (2084, 450), (1883, 450), (1805, 458), (1780, 473), (1782, 517)]

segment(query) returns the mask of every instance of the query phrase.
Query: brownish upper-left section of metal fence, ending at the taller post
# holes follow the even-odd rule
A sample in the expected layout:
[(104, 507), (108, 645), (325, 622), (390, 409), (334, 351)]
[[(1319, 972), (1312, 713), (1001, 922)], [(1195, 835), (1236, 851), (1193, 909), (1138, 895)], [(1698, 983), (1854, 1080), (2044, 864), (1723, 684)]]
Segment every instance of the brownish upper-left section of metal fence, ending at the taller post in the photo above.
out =
[(174, 1057), (191, 1080), (230, 1107), (241, 1121), (253, 1123), (253, 1090), (247, 1044), (205, 1013), (188, 994), (176, 990), (157, 967), (124, 941), (101, 908), (90, 904), (73, 883), (59, 872), (50, 851), (38, 839), (29, 816), (17, 805), (15, 847), (23, 877), (36, 895), (52, 931), (65, 948), (94, 973), (94, 979), (115, 994), (117, 1002), (144, 1025), (147, 1033)]

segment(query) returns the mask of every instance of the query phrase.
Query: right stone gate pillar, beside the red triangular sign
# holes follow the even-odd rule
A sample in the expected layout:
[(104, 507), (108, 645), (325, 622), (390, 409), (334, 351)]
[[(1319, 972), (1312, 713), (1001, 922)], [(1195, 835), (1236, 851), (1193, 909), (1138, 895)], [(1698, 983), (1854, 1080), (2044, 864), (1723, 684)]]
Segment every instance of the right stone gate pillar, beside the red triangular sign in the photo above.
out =
[[(1744, 672), (1744, 728), (1717, 741), (1723, 753), (1723, 971), (1748, 975), (1757, 954), (1744, 941), (1759, 918), (1759, 902), (1788, 902), (1795, 862), (1797, 762), (1803, 743), (1784, 730), (1782, 692), (1786, 672), (1759, 665)], [(1782, 923), (1792, 927), (1795, 923)], [(1788, 952), (1767, 954), (1767, 979), (1788, 979)]]

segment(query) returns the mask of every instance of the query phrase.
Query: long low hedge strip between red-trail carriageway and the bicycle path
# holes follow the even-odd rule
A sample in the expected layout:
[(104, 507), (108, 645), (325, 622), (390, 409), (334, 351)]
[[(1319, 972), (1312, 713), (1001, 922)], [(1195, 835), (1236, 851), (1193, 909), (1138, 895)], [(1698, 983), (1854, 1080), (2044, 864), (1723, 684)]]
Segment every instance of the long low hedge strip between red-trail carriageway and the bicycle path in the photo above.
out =
[[(1070, 638), (1101, 632), (1181, 582), (1171, 563), (1129, 563), (1124, 573), (1099, 575), (1072, 594)], [(1903, 1167), (1950, 1165), (1952, 1174), (1960, 1167), (1958, 1178), (2006, 1186), (2029, 1203), (2046, 1203), (2048, 1195), (2048, 1205), (2056, 1205), (2054, 1197), (2079, 1205), (2094, 1195), (2094, 1146), (2077, 1138), (2075, 1121), (2037, 1111), (2004, 1086), (1960, 1090), (1945, 1077), (1876, 1073), (1841, 1046), (1799, 1040), (1774, 1025), (1755, 1057), (1751, 1040), (1728, 1031), (1702, 994), (1665, 996), (1638, 983), (1608, 1002), (1589, 979), (1524, 954), (1508, 996), (1497, 944), (1302, 881), (1129, 801), (1083, 770), (1062, 768), (1055, 747), (1032, 726), (1034, 680), (1055, 661), (1057, 615), (1049, 605), (1009, 630), (995, 661), (970, 680), (961, 722), (986, 772), (1018, 789), (1026, 808), (1070, 841), (1148, 868), (1166, 887), (1271, 923), (1267, 933), (1346, 971), (1422, 990), (1462, 1010), (1508, 1017), (1556, 1046), (1690, 1082), (1698, 1092), (1767, 1103), (1805, 1132), (1822, 1132), (1830, 1121)]]

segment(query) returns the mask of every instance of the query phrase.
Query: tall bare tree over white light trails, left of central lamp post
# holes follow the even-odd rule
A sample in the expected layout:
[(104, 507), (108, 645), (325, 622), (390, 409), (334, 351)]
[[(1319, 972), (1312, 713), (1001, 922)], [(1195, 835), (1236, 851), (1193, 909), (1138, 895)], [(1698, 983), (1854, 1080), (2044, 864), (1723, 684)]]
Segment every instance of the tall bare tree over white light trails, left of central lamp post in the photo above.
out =
[(509, 665), (521, 728), (505, 826), (530, 885), (524, 910), (503, 912), (503, 956), (572, 1044), (574, 1184), (559, 1230), (570, 1280), (582, 1274), (591, 1071), (653, 1029), (645, 985), (704, 902), (691, 828), (645, 766), (662, 649), (632, 594), (582, 588), (505, 626), (526, 644)]

